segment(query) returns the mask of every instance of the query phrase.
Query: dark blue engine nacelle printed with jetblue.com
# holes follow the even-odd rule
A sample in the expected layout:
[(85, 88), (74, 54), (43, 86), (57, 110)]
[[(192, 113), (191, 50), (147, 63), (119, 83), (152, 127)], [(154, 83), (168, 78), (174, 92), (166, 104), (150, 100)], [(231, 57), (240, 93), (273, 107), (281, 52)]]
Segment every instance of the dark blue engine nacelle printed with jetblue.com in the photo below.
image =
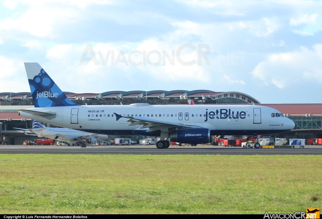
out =
[(189, 128), (170, 133), (170, 140), (182, 144), (207, 144), (210, 142), (208, 128)]

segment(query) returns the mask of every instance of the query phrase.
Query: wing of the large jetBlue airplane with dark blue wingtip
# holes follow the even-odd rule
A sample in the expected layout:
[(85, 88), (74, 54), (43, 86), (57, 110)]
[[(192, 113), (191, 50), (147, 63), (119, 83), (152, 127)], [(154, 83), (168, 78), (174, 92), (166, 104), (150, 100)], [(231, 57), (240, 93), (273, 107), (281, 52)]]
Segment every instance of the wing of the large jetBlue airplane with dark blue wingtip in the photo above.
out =
[(181, 127), (183, 129), (186, 128), (202, 128), (200, 126), (195, 125), (186, 125), (182, 123), (176, 123), (176, 122), (167, 122), (162, 120), (157, 120), (153, 118), (146, 118), (146, 117), (140, 117), (140, 116), (121, 116), (117, 113), (114, 113), (116, 116), (116, 120), (120, 118), (128, 118), (128, 126), (135, 126), (135, 125), (141, 125), (139, 128), (149, 128), (147, 132), (154, 132), (157, 130), (163, 130), (164, 128), (172, 128), (172, 127)]

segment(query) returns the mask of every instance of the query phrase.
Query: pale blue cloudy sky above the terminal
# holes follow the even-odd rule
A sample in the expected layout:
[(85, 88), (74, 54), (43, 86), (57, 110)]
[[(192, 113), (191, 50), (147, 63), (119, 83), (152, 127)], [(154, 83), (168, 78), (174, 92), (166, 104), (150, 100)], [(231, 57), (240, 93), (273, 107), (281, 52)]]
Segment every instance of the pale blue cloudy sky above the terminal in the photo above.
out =
[(0, 92), (37, 62), (66, 92), (243, 92), (321, 103), (322, 2), (0, 1)]

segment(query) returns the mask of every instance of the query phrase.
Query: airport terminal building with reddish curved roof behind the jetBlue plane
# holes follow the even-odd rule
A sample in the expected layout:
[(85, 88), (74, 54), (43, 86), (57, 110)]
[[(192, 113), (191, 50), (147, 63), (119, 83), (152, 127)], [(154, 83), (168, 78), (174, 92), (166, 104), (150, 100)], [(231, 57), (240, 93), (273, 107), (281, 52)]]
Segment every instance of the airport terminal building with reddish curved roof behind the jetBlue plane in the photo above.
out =
[[(103, 93), (64, 92), (73, 102), (80, 105), (124, 105), (147, 102), (154, 104), (255, 104), (279, 110), (295, 122), (293, 130), (276, 135), (282, 138), (322, 138), (322, 104), (262, 104), (255, 98), (241, 92), (214, 92), (209, 90), (174, 91), (109, 91)], [(14, 128), (31, 128), (31, 119), (18, 115), (18, 110), (33, 108), (30, 92), (0, 93), (0, 142), (22, 145), (26, 136)], [(45, 124), (47, 125), (47, 124)], [(49, 124), (48, 124), (49, 125)], [(49, 125), (50, 126), (50, 125)]]

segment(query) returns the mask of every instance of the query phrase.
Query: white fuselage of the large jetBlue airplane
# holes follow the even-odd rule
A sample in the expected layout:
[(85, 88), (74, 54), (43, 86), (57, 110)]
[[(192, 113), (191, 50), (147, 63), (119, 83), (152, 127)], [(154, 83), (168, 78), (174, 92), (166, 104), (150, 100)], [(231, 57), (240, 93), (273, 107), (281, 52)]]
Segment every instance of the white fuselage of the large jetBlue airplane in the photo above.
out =
[(139, 129), (140, 125), (128, 126), (127, 118), (117, 120), (114, 113), (196, 125), (210, 129), (211, 135), (276, 134), (294, 128), (294, 122), (289, 118), (271, 116), (272, 113), (280, 113), (278, 110), (258, 105), (81, 105), (28, 110), (56, 115), (39, 116), (22, 111), (20, 115), (61, 127), (106, 135), (158, 136), (157, 133), (146, 132), (147, 129)]

